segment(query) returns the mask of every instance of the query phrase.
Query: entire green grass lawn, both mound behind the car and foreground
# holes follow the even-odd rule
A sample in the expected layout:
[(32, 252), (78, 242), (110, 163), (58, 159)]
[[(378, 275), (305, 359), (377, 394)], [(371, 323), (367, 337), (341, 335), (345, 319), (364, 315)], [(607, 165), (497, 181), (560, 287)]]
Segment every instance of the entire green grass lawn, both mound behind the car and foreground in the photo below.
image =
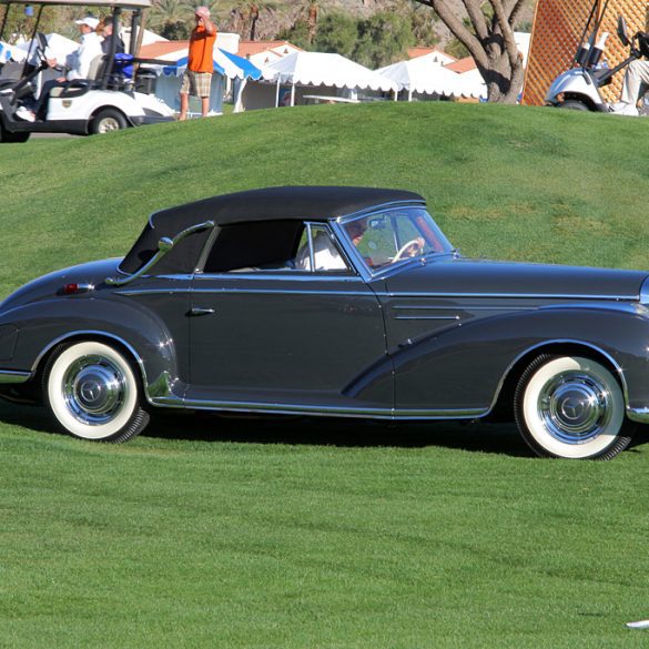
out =
[[(274, 184), (423, 193), (465, 254), (648, 267), (643, 120), (305, 107), (2, 145), (0, 295), (146, 215)], [(126, 445), (0, 403), (0, 647), (646, 647), (649, 444), (511, 426), (154, 415)]]

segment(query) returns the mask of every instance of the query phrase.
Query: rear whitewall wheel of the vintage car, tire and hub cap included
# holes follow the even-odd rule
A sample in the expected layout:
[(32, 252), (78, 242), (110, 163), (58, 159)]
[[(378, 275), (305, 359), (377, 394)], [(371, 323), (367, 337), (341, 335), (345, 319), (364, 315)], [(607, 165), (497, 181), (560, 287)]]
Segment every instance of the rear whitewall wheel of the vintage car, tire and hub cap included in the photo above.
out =
[(135, 371), (98, 341), (54, 349), (43, 372), (43, 402), (63, 430), (82, 439), (126, 442), (149, 423)]

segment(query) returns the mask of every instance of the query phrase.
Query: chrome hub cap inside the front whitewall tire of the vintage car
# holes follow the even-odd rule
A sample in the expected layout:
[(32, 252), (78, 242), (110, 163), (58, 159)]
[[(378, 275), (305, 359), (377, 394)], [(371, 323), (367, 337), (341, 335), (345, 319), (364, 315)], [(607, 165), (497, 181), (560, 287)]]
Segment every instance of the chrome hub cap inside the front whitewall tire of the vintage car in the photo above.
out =
[(586, 373), (555, 376), (544, 386), (538, 406), (548, 433), (568, 444), (580, 444), (597, 437), (611, 415), (606, 386)]

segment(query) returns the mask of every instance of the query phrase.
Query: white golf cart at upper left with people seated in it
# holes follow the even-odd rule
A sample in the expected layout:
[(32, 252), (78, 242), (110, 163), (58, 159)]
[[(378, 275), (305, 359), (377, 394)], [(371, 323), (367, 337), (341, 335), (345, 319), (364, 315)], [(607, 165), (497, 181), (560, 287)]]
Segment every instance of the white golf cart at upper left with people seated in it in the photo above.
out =
[(116, 54), (115, 39), (111, 40), (112, 48), (108, 54), (92, 61), (88, 79), (68, 81), (63, 87), (52, 89), (34, 121), (17, 115), (22, 102), (38, 97), (41, 73), (49, 69), (45, 54), (48, 41), (39, 31), (45, 7), (109, 8), (115, 33), (119, 33), (122, 10), (131, 11), (129, 51), (134, 52), (142, 10), (151, 6), (150, 0), (0, 0), (2, 6), (6, 10), (0, 40), (12, 9), (18, 7), (29, 16), (36, 7), (37, 16), (29, 52), (19, 72), (6, 75), (2, 70), (4, 65), (0, 64), (0, 142), (26, 142), (31, 133), (90, 135), (174, 119), (173, 111), (152, 94), (155, 74), (142, 67), (149, 61), (130, 54)]

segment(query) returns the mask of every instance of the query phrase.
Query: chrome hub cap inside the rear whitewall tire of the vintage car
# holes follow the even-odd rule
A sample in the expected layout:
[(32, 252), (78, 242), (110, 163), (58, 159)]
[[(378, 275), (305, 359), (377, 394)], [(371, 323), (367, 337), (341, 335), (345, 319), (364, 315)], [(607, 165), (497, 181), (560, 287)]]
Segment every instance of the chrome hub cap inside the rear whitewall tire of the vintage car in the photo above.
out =
[(68, 408), (84, 424), (110, 422), (120, 412), (125, 395), (126, 382), (120, 368), (99, 356), (77, 361), (63, 382)]

